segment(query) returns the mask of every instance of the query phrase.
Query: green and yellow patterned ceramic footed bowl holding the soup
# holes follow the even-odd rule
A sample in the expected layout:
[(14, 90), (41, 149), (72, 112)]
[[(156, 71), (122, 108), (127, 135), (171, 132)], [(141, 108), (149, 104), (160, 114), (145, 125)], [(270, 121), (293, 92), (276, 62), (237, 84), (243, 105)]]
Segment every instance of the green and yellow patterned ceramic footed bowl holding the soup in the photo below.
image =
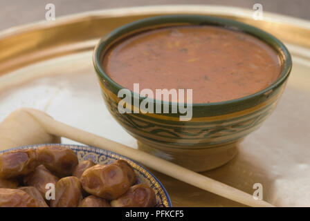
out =
[[(102, 68), (107, 50), (124, 37), (151, 28), (172, 25), (209, 25), (240, 30), (271, 46), (280, 57), (278, 79), (258, 93), (226, 102), (192, 104), (192, 119), (180, 121), (180, 113), (119, 113), (118, 91), (123, 87)], [(225, 164), (237, 153), (237, 145), (262, 125), (274, 110), (291, 72), (291, 55), (281, 41), (267, 32), (230, 19), (203, 15), (170, 15), (129, 23), (103, 37), (95, 47), (93, 64), (98, 74), (102, 95), (113, 117), (136, 137), (139, 148), (194, 171), (206, 171)], [(136, 95), (131, 91), (131, 97)], [(143, 97), (140, 97), (141, 102)], [(152, 99), (156, 104), (177, 103)], [(134, 104), (132, 101), (131, 104)], [(131, 109), (138, 108), (132, 106)]]

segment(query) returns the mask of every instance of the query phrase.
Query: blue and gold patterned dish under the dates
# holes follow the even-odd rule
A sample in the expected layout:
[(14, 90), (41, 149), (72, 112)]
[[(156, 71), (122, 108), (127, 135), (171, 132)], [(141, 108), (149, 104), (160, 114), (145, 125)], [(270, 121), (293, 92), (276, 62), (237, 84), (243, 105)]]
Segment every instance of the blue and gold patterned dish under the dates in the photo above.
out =
[(154, 189), (156, 194), (156, 207), (172, 207), (172, 203), (170, 197), (163, 187), (163, 184), (157, 180), (157, 178), (150, 173), (145, 167), (141, 166), (134, 160), (130, 160), (127, 157), (119, 155), (117, 153), (113, 153), (111, 151), (106, 151), (100, 148), (95, 148), (93, 146), (79, 146), (79, 145), (71, 145), (71, 144), (37, 144), (30, 146), (21, 146), (17, 148), (10, 148), (5, 151), (0, 151), (0, 153), (12, 151), (19, 148), (38, 148), (39, 146), (46, 145), (57, 145), (64, 146), (66, 148), (71, 148), (77, 155), (79, 161), (82, 160), (92, 160), (96, 164), (109, 164), (114, 160), (126, 160), (136, 172), (138, 177), (138, 183), (145, 183)]

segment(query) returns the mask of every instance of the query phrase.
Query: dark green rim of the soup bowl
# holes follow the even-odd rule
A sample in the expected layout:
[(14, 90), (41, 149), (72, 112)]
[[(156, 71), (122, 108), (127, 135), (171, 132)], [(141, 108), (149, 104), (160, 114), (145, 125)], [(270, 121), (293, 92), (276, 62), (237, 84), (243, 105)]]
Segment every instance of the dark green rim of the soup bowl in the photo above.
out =
[[(268, 44), (271, 48), (277, 52), (277, 55), (280, 57), (281, 60), (281, 72), (279, 77), (275, 81), (273, 81), (273, 84), (270, 86), (259, 90), (257, 93), (253, 93), (251, 95), (247, 95), (245, 97), (239, 97), (237, 99), (230, 99), (227, 101), (222, 102), (210, 102), (210, 103), (192, 103), (192, 107), (211, 107), (211, 106), (224, 106), (224, 105), (231, 105), (234, 106), (237, 105), (239, 102), (249, 102), (252, 99), (257, 99), (257, 97), (260, 97), (264, 95), (265, 93), (268, 94), (269, 91), (274, 90), (278, 86), (282, 85), (284, 81), (289, 77), (289, 74), (291, 73), (292, 68), (292, 60), (291, 55), (289, 53), (289, 50), (284, 46), (282, 41), (274, 37), (273, 35), (269, 34), (268, 32), (265, 32), (264, 30), (260, 28), (256, 28), (254, 26), (250, 26), (246, 23), (242, 23), (239, 21), (235, 21), (233, 19), (226, 19), (223, 17), (215, 17), (215, 16), (208, 16), (208, 15), (163, 15), (163, 16), (156, 16), (156, 17), (149, 17), (146, 19), (140, 19), (138, 21), (134, 21), (131, 23), (127, 23), (124, 26), (120, 26), (119, 28), (114, 29), (113, 31), (109, 32), (109, 34), (105, 35), (100, 39), (98, 44), (95, 46), (93, 50), (93, 66), (96, 70), (96, 73), (98, 74), (98, 77), (104, 79), (104, 81), (107, 81), (113, 88), (116, 88), (117, 90), (124, 89), (123, 86), (120, 86), (116, 81), (113, 81), (107, 75), (107, 73), (104, 72), (102, 68), (102, 54), (104, 50), (108, 49), (109, 46), (111, 46), (112, 40), (119, 41), (122, 39), (120, 37), (120, 33), (124, 35), (125, 33), (132, 32), (133, 30), (139, 30), (138, 27), (145, 28), (143, 30), (147, 30), (148, 28), (152, 28), (152, 26), (158, 26), (159, 24), (169, 24), (172, 25), (172, 23), (188, 23), (191, 25), (192, 23), (196, 22), (198, 25), (211, 25), (211, 26), (220, 26), (222, 28), (228, 28), (231, 30), (239, 30), (241, 32), (244, 32), (248, 35), (252, 35), (253, 37), (256, 37), (260, 39), (261, 41), (264, 41), (265, 44)], [(128, 89), (128, 88), (126, 88)], [(129, 89), (128, 89), (129, 90)], [(140, 94), (134, 93), (132, 90), (130, 90), (132, 97), (140, 96), (140, 98), (145, 98)], [(148, 98), (151, 99), (154, 103), (160, 103), (162, 105), (168, 104), (169, 106), (175, 106), (178, 105), (179, 102), (167, 102), (163, 100), (158, 100), (154, 98)]]

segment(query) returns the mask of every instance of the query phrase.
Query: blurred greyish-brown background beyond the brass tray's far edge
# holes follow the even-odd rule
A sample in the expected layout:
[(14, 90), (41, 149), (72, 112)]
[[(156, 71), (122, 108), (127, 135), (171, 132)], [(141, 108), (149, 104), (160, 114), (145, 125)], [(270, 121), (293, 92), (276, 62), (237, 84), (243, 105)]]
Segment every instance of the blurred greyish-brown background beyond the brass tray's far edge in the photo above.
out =
[(133, 6), (202, 4), (252, 9), (261, 3), (264, 11), (310, 20), (309, 0), (0, 0), (0, 30), (45, 19), (45, 6), (55, 4), (57, 17), (89, 10)]

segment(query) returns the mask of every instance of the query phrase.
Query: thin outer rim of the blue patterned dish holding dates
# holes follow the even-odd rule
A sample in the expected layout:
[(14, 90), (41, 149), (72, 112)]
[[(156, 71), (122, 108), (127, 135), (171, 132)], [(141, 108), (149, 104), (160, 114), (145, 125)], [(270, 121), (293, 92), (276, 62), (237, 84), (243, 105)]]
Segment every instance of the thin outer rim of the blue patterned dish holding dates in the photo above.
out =
[(167, 190), (165, 189), (165, 186), (163, 186), (163, 184), (158, 180), (158, 178), (153, 173), (151, 173), (148, 169), (145, 168), (145, 166), (139, 164), (135, 160), (131, 160), (129, 157), (125, 157), (124, 155), (115, 153), (113, 151), (108, 151), (108, 150), (98, 148), (95, 146), (86, 146), (86, 145), (79, 145), (79, 144), (30, 144), (30, 145), (25, 145), (25, 146), (17, 146), (14, 148), (8, 148), (6, 150), (1, 150), (0, 154), (6, 153), (8, 151), (15, 151), (15, 150), (24, 149), (24, 148), (38, 148), (39, 146), (64, 146), (66, 148), (71, 148), (71, 147), (74, 147), (74, 148), (90, 148), (91, 150), (95, 150), (96, 153), (100, 153), (100, 151), (104, 151), (106, 153), (117, 155), (118, 157), (129, 160), (129, 161), (133, 162), (134, 164), (137, 164), (138, 166), (140, 166), (140, 168), (147, 171), (147, 173), (149, 173), (149, 175), (151, 175), (154, 178), (154, 180), (159, 184), (159, 186), (161, 186), (161, 189), (163, 189), (163, 193), (165, 194), (165, 196), (167, 198), (168, 207), (172, 207), (170, 195), (168, 194)]

